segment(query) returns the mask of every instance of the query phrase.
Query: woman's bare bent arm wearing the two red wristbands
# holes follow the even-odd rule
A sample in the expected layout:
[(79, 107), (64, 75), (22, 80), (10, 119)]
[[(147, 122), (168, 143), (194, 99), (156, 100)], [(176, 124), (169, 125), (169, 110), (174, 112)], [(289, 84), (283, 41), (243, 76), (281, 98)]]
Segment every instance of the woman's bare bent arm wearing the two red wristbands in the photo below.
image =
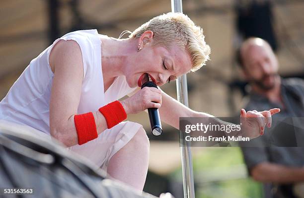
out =
[[(76, 41), (59, 41), (50, 54), (54, 72), (50, 99), (50, 132), (66, 146), (78, 143), (74, 115), (80, 101), (83, 80), (81, 50)], [(99, 111), (93, 112), (97, 133), (107, 129), (105, 118)]]

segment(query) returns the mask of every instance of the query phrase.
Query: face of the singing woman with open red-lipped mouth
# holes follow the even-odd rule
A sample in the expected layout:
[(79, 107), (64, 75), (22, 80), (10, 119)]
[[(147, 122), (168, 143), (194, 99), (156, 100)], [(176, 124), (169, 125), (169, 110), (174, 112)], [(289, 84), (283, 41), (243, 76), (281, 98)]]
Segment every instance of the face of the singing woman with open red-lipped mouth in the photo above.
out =
[(146, 45), (137, 52), (128, 64), (132, 65), (125, 73), (130, 87), (141, 87), (148, 80), (161, 86), (189, 72), (192, 68), (191, 58), (186, 50), (152, 45)]

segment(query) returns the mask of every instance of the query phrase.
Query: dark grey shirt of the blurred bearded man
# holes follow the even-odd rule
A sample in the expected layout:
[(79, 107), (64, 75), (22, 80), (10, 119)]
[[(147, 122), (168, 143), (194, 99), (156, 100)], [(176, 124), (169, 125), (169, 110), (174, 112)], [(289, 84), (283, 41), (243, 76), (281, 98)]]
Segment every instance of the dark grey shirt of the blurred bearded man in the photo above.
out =
[[(249, 173), (253, 167), (262, 162), (290, 167), (304, 166), (304, 147), (293, 147), (304, 146), (304, 80), (289, 78), (282, 79), (281, 83), (284, 106), (272, 103), (262, 95), (253, 92), (249, 94), (246, 111), (281, 109), (280, 113), (272, 116), (272, 128), (266, 128), (264, 135), (249, 142), (251, 146), (259, 145), (259, 147), (242, 147)], [(266, 198), (272, 197), (270, 192), (266, 194)], [(292, 185), (279, 185), (273, 197), (293, 198)]]

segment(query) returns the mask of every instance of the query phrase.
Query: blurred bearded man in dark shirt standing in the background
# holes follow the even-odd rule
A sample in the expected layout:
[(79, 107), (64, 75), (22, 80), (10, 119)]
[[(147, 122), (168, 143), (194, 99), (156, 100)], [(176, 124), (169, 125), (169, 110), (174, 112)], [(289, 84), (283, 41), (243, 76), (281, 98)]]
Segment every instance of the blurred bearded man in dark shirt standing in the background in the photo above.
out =
[[(304, 80), (279, 76), (278, 60), (266, 41), (260, 38), (246, 40), (240, 48), (239, 61), (251, 87), (246, 110), (280, 108), (281, 113), (273, 116), (273, 120), (304, 117)], [(272, 135), (272, 132), (266, 132), (252, 141), (259, 143), (271, 139), (275, 145), (299, 146), (299, 132), (293, 125), (281, 123), (273, 128)], [(268, 146), (242, 147), (249, 174), (265, 184), (265, 198), (304, 196), (301, 193), (304, 189), (301, 188), (304, 182), (304, 147)]]

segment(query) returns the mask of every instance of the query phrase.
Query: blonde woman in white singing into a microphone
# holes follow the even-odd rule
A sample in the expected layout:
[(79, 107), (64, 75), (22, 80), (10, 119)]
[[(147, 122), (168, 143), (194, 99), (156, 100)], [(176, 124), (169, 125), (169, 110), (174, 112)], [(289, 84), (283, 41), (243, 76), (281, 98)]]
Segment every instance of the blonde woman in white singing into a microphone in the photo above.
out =
[[(150, 144), (142, 125), (127, 119), (158, 108), (163, 122), (179, 128), (179, 117), (212, 117), (193, 111), (157, 86), (196, 71), (209, 59), (203, 30), (182, 13), (152, 18), (128, 39), (97, 30), (71, 32), (33, 59), (0, 102), (0, 119), (27, 125), (64, 143), (116, 178), (142, 191)], [(118, 101), (124, 96), (130, 96)], [(153, 102), (152, 102), (153, 101)], [(174, 111), (171, 111), (174, 109)], [(241, 116), (256, 137), (279, 109)]]

